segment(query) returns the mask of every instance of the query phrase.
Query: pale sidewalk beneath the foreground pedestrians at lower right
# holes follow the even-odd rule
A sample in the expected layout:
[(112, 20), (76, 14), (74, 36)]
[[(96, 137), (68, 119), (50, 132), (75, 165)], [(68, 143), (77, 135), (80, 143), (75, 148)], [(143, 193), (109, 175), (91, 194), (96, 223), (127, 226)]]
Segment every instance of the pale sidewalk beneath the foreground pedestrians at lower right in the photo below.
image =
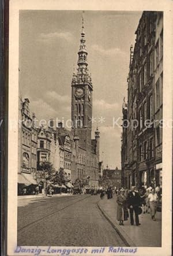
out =
[(100, 199), (97, 206), (119, 233), (127, 246), (137, 247), (161, 247), (161, 213), (156, 213), (156, 221), (151, 219), (151, 214), (145, 213), (139, 216), (140, 226), (130, 225), (130, 217), (124, 222), (124, 226), (119, 225), (116, 220), (116, 195), (112, 199)]

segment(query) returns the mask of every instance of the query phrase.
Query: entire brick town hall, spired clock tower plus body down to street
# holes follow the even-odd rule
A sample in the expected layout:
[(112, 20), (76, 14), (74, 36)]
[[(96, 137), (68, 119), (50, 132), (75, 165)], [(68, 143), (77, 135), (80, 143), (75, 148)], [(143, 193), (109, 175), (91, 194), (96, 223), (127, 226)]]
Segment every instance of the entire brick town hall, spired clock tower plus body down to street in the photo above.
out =
[[(98, 129), (92, 139), (92, 92), (93, 85), (88, 73), (84, 24), (82, 24), (77, 73), (72, 79), (72, 125), (76, 141), (77, 176), (86, 179), (91, 186), (99, 186), (99, 137)], [(74, 131), (75, 130), (75, 131)], [(77, 137), (76, 137), (77, 138)], [(77, 146), (78, 145), (78, 146)]]

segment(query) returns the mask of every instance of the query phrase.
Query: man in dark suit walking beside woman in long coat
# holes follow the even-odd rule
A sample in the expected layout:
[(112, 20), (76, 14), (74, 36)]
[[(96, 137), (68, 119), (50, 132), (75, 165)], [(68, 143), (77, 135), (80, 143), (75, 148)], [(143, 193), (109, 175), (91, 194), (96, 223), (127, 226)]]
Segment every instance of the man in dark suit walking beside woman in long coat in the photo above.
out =
[(134, 224), (133, 212), (135, 213), (136, 225), (137, 226), (141, 225), (138, 217), (138, 209), (140, 207), (140, 195), (138, 194), (138, 192), (135, 191), (135, 187), (131, 187), (131, 191), (129, 192), (129, 195), (127, 198), (127, 205), (128, 205), (128, 208), (130, 209), (131, 225)]

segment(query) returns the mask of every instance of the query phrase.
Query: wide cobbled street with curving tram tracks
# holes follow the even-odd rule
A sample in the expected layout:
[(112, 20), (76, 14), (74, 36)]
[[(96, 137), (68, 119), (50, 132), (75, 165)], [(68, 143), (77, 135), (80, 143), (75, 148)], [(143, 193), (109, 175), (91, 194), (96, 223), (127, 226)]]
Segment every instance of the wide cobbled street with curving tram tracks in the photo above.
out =
[(18, 200), (18, 246), (126, 246), (99, 201), (99, 195)]

